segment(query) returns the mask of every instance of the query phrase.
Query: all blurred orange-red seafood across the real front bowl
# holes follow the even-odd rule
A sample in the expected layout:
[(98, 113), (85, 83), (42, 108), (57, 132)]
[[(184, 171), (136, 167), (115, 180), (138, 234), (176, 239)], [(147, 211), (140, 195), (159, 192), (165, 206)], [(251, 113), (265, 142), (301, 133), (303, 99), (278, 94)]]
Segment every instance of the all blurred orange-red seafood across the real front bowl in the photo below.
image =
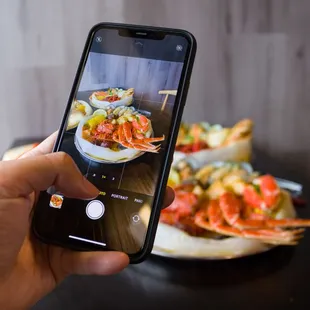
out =
[(239, 182), (236, 192), (222, 185), (221, 190), (201, 193), (196, 186), (175, 188), (176, 201), (162, 211), (163, 223), (178, 226), (187, 217), (206, 231), (279, 245), (295, 245), (303, 228), (310, 227), (309, 219), (275, 217), (284, 192), (271, 175), (243, 182), (241, 187)]

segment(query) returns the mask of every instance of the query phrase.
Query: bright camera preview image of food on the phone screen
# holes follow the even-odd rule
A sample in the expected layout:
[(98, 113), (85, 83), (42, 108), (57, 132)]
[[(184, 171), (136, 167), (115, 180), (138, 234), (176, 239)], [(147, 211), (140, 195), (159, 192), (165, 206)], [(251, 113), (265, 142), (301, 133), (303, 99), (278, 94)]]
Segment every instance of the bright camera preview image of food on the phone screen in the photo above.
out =
[(182, 67), (91, 51), (61, 150), (98, 186), (153, 195)]

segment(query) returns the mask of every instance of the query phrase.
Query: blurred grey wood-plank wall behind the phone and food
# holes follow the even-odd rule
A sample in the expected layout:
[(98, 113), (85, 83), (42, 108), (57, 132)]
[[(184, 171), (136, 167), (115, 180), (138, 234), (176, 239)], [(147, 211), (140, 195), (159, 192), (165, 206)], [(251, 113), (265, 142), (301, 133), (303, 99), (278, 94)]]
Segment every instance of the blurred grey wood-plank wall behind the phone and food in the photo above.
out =
[(0, 151), (57, 128), (94, 23), (144, 23), (197, 38), (185, 120), (251, 117), (266, 167), (307, 181), (309, 16), (307, 0), (2, 0)]

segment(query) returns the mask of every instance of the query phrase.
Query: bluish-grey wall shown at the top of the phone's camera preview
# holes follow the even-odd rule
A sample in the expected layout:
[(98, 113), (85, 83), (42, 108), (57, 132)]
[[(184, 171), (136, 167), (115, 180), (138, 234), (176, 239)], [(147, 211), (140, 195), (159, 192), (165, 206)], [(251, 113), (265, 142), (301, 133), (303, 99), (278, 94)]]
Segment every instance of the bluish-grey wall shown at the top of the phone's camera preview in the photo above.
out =
[[(135, 98), (162, 103), (159, 90), (177, 89), (183, 64), (119, 55), (90, 53), (79, 91), (108, 87), (134, 88)], [(174, 100), (173, 96), (169, 96)]]

